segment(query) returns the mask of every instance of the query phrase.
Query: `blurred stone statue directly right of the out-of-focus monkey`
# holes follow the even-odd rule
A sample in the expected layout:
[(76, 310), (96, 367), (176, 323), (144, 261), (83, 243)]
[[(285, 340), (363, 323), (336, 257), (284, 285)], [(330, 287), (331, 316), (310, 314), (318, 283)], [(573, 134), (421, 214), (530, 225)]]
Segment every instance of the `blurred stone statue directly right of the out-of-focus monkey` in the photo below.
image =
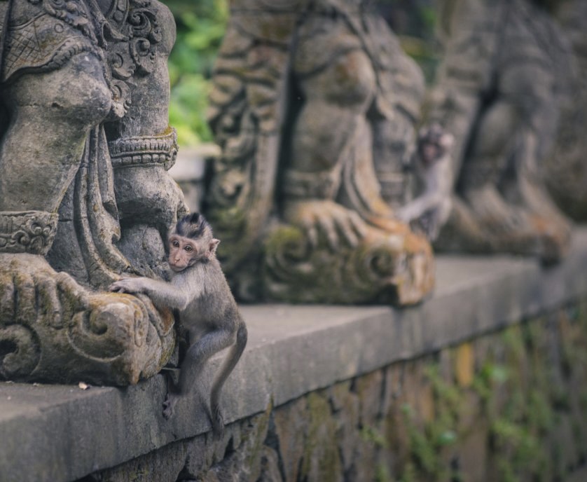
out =
[[(556, 261), (570, 226), (544, 186), (569, 47), (546, 4), (445, 0), (432, 118), (455, 135), (455, 199), (435, 246)], [(544, 4), (544, 5), (543, 5)]]

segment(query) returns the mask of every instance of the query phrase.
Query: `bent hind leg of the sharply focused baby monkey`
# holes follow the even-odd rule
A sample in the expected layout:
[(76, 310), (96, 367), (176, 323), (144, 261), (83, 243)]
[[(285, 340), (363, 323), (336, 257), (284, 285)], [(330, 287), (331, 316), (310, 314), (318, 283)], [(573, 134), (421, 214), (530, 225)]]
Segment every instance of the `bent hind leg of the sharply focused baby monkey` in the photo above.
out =
[(179, 372), (179, 387), (177, 392), (168, 392), (163, 403), (163, 417), (172, 417), (175, 404), (182, 397), (190, 394), (195, 380), (202, 373), (204, 364), (213, 354), (235, 343), (236, 333), (230, 330), (217, 330), (207, 333), (198, 342), (188, 348), (184, 362)]

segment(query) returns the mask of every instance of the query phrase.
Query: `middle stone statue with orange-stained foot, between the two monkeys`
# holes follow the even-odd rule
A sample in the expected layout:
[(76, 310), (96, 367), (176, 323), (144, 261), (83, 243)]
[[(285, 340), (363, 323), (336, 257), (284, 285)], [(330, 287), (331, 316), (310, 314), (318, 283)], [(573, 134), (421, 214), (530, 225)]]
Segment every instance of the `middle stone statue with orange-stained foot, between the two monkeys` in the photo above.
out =
[(235, 292), (420, 301), (431, 249), (389, 202), (405, 194), (422, 74), (366, 1), (232, 6), (209, 113), (222, 155), (205, 206)]

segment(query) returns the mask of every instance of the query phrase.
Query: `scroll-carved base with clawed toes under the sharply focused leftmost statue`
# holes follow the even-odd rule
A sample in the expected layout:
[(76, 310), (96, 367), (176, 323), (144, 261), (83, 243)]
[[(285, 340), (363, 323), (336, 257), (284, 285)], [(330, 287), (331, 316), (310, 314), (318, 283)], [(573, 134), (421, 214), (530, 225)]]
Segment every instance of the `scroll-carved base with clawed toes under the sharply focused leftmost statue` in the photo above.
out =
[(167, 363), (172, 328), (147, 298), (92, 293), (41, 256), (0, 254), (0, 379), (137, 383)]

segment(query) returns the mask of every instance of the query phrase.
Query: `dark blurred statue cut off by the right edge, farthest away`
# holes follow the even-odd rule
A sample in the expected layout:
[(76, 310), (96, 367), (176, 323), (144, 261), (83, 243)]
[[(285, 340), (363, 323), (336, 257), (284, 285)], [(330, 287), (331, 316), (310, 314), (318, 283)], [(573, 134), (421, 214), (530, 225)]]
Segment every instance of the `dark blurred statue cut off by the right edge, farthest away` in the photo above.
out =
[(557, 12), (572, 46), (574, 69), (565, 97), (558, 139), (546, 158), (546, 186), (563, 212), (575, 221), (587, 221), (587, 2), (566, 0)]

